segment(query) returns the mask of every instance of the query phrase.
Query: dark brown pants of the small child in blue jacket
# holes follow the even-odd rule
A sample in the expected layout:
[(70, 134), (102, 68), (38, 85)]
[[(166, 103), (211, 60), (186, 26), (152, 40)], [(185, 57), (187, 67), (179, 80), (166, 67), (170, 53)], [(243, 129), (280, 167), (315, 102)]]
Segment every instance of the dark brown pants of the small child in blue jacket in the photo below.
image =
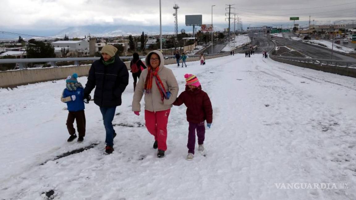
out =
[(69, 111), (67, 117), (67, 129), (69, 135), (75, 134), (75, 129), (73, 127), (74, 120), (77, 122), (77, 129), (79, 133), (79, 137), (85, 136), (85, 113), (84, 110), (80, 111)]

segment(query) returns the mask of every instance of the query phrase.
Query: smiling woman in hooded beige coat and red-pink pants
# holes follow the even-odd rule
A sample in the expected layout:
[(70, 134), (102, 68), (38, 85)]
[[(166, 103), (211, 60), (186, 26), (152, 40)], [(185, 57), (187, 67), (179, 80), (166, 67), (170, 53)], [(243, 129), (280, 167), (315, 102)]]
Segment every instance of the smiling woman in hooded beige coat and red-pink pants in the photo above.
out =
[(145, 94), (145, 121), (148, 132), (155, 136), (153, 148), (163, 158), (167, 150), (167, 123), (169, 112), (178, 95), (178, 83), (171, 69), (164, 67), (163, 54), (154, 50), (147, 54), (147, 69), (141, 73), (132, 100), (132, 111), (140, 115)]

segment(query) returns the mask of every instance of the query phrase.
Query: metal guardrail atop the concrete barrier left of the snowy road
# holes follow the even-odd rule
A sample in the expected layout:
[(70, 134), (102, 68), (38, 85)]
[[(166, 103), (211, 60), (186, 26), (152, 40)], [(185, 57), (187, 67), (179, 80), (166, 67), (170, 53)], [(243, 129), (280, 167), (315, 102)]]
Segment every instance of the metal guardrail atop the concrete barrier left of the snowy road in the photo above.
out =
[[(205, 57), (209, 56), (216, 56), (216, 55), (223, 55), (226, 53), (216, 53), (216, 54), (208, 54), (204, 55)], [(199, 57), (200, 55), (187, 55), (187, 57)], [(173, 59), (175, 56), (165, 56), (165, 59)], [(140, 56), (140, 59), (146, 58), (146, 56)], [(26, 69), (27, 63), (51, 63), (52, 67), (57, 67), (57, 62), (67, 62), (67, 61), (74, 61), (74, 65), (79, 65), (79, 61), (86, 61), (86, 60), (98, 60), (100, 57), (80, 57), (80, 58), (15, 58), (15, 59), (0, 59), (0, 64), (4, 63), (18, 63), (20, 69)], [(132, 56), (121, 56), (121, 60), (127, 59), (132, 60)], [(64, 67), (64, 66), (63, 66)]]

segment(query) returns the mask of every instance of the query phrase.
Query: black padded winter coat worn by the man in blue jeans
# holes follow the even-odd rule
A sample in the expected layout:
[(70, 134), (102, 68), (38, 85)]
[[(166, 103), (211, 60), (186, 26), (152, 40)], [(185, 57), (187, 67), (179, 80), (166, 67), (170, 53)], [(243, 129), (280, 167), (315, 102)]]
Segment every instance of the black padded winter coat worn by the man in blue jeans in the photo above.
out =
[(129, 84), (129, 71), (124, 62), (115, 56), (115, 62), (104, 65), (103, 57), (91, 64), (84, 98), (95, 88), (94, 103), (100, 107), (121, 105), (121, 94)]

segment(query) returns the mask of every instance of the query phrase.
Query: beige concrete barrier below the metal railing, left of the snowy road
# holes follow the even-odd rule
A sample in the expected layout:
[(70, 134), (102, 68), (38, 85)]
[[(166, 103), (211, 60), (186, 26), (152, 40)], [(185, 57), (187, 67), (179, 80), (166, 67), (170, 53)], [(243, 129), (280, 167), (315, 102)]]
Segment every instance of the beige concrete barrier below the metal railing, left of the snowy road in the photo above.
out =
[[(206, 56), (205, 59), (217, 58), (230, 55), (219, 54)], [(199, 57), (187, 58), (187, 62), (199, 60)], [(164, 64), (175, 64), (176, 59), (165, 59)], [(130, 70), (130, 62), (125, 62), (127, 70)], [(90, 65), (80, 65), (73, 67), (51, 67), (41, 69), (22, 69), (0, 72), (0, 88), (14, 88), (19, 85), (27, 85), (43, 81), (65, 79), (68, 75), (77, 73), (79, 77), (88, 76)]]

